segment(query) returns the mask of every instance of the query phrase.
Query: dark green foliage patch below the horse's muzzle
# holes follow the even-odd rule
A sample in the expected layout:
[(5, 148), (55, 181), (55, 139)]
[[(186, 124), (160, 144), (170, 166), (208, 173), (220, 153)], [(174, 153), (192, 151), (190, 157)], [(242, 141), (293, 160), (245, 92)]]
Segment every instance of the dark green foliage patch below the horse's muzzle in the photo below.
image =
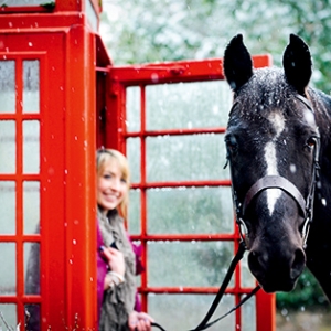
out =
[(329, 306), (320, 285), (308, 269), (302, 273), (291, 292), (278, 292), (276, 298), (278, 309), (290, 310)]

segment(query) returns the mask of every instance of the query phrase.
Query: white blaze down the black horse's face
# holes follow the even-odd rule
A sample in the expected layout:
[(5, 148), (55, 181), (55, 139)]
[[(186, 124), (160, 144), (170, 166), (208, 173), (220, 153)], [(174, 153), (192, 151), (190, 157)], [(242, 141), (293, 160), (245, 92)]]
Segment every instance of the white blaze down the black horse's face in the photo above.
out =
[[(277, 153), (276, 153), (276, 140), (285, 128), (285, 118), (279, 111), (274, 111), (269, 115), (268, 120), (273, 125), (276, 134), (271, 141), (267, 142), (265, 146), (265, 161), (267, 164), (267, 173), (266, 175), (279, 175), (278, 173), (278, 162), (277, 162)], [(270, 216), (274, 213), (275, 205), (277, 200), (281, 195), (280, 189), (268, 189), (267, 190), (267, 203)]]

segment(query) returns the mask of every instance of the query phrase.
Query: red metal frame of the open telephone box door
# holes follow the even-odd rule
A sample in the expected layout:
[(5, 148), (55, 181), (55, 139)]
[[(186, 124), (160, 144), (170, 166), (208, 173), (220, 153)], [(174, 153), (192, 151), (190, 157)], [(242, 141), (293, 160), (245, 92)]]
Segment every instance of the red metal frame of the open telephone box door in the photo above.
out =
[[(270, 66), (271, 57), (269, 55), (254, 56), (255, 67)], [(233, 234), (181, 234), (181, 235), (152, 235), (147, 232), (147, 190), (151, 188), (178, 188), (178, 186), (229, 186), (229, 180), (221, 181), (175, 181), (175, 182), (148, 182), (146, 178), (146, 138), (153, 136), (179, 136), (194, 134), (224, 134), (225, 128), (201, 128), (201, 129), (168, 129), (149, 131), (146, 129), (146, 95), (145, 86), (150, 84), (178, 83), (178, 82), (204, 82), (213, 79), (224, 79), (222, 72), (222, 60), (205, 61), (181, 61), (175, 63), (134, 65), (124, 67), (110, 67), (109, 94), (107, 95), (106, 129), (103, 140), (104, 146), (116, 148), (126, 152), (126, 139), (132, 137), (140, 138), (141, 163), (140, 182), (134, 183), (132, 189), (140, 189), (141, 196), (141, 233), (134, 235), (132, 238), (140, 241), (145, 246), (143, 261), (147, 265), (147, 242), (149, 241), (233, 241), (235, 252), (238, 248), (239, 234), (235, 226)], [(126, 88), (129, 86), (140, 87), (140, 111), (141, 129), (135, 132), (128, 132), (125, 126), (126, 119)], [(149, 287), (147, 282), (148, 275), (145, 273), (141, 277), (140, 292), (142, 293), (142, 303), (147, 310), (148, 293), (216, 293), (217, 288), (211, 287)], [(235, 295), (235, 302), (238, 303), (244, 293), (249, 292), (250, 288), (241, 287), (241, 268), (236, 268), (234, 287), (227, 289), (227, 293)], [(276, 330), (275, 323), (275, 296), (259, 292), (256, 296), (256, 323), (257, 330)], [(241, 329), (241, 310), (235, 313), (237, 328)], [(238, 330), (238, 329), (237, 329)]]

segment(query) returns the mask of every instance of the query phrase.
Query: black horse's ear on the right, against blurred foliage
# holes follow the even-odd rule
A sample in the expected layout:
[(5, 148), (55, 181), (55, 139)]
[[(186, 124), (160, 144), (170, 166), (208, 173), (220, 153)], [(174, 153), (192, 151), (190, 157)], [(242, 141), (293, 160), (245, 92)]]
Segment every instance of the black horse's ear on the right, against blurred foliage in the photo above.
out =
[(296, 34), (290, 34), (290, 42), (282, 56), (282, 66), (288, 83), (299, 94), (305, 95), (312, 73), (312, 62), (308, 45)]

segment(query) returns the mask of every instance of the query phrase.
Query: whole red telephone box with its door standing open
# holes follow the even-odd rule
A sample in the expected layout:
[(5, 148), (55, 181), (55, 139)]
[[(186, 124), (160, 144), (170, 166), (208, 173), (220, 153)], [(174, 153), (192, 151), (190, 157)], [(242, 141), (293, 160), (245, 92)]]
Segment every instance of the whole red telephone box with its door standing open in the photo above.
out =
[[(195, 302), (196, 297), (199, 301), (211, 302), (217, 277), (211, 281), (206, 275), (205, 280), (192, 284), (167, 280), (162, 274), (152, 275), (158, 270), (154, 254), (163, 250), (169, 256), (171, 252), (188, 250), (186, 256), (196, 255), (194, 252), (205, 256), (207, 245), (207, 252), (216, 252), (217, 245), (222, 245), (218, 243), (226, 242), (225, 250), (232, 255), (238, 243), (237, 229), (234, 225), (226, 233), (217, 233), (215, 228), (212, 233), (160, 229), (152, 221), (156, 218), (152, 206), (157, 205), (152, 202), (158, 200), (154, 194), (158, 192), (166, 195), (170, 192), (172, 196), (175, 191), (192, 196), (194, 190), (207, 194), (218, 188), (228, 190), (228, 178), (218, 177), (217, 172), (212, 178), (199, 173), (172, 178), (171, 172), (162, 178), (158, 170), (151, 174), (149, 167), (158, 161), (158, 154), (151, 158), (150, 148), (162, 149), (163, 142), (158, 143), (163, 138), (180, 147), (190, 136), (196, 138), (188, 142), (195, 146), (192, 152), (200, 159), (207, 158), (200, 138), (222, 140), (225, 126), (213, 122), (209, 127), (194, 124), (173, 127), (169, 122), (166, 127), (153, 127), (148, 114), (151, 86), (177, 89), (175, 84), (189, 82), (220, 83), (224, 79), (221, 61), (116, 67), (98, 35), (99, 1), (44, 2), (9, 1), (0, 9), (0, 201), (3, 205), (0, 311), (3, 318), (10, 325), (22, 328), (33, 307), (40, 316), (41, 330), (97, 329), (94, 161), (97, 146), (120, 149), (135, 169), (131, 194), (135, 211), (129, 213), (128, 226), (134, 238), (146, 248), (147, 271), (139, 287), (143, 308), (158, 314), (156, 307), (167, 305), (167, 296), (172, 296), (172, 300), (178, 298), (181, 306), (184, 301)], [(268, 57), (256, 61), (261, 61), (255, 63), (257, 66), (270, 64)], [(158, 93), (152, 97), (156, 102)], [(134, 126), (128, 126), (128, 121)], [(156, 164), (162, 170), (161, 163)], [(192, 220), (188, 224), (195, 226)], [(234, 224), (233, 220), (231, 223)], [(193, 246), (197, 249), (192, 249)], [(36, 252), (32, 267), (39, 280), (28, 289), (32, 250)], [(173, 266), (173, 274), (177, 268)], [(242, 282), (243, 273), (238, 267), (228, 289), (231, 303), (250, 288)], [(253, 313), (256, 330), (275, 330), (274, 301), (274, 296), (258, 293)], [(188, 311), (202, 318), (204, 311), (199, 309), (204, 307), (197, 305), (195, 310), (192, 307)], [(247, 320), (245, 316), (249, 316), (248, 310), (244, 314), (236, 312), (231, 328), (245, 330), (242, 323)], [(167, 327), (167, 316), (163, 318)]]

